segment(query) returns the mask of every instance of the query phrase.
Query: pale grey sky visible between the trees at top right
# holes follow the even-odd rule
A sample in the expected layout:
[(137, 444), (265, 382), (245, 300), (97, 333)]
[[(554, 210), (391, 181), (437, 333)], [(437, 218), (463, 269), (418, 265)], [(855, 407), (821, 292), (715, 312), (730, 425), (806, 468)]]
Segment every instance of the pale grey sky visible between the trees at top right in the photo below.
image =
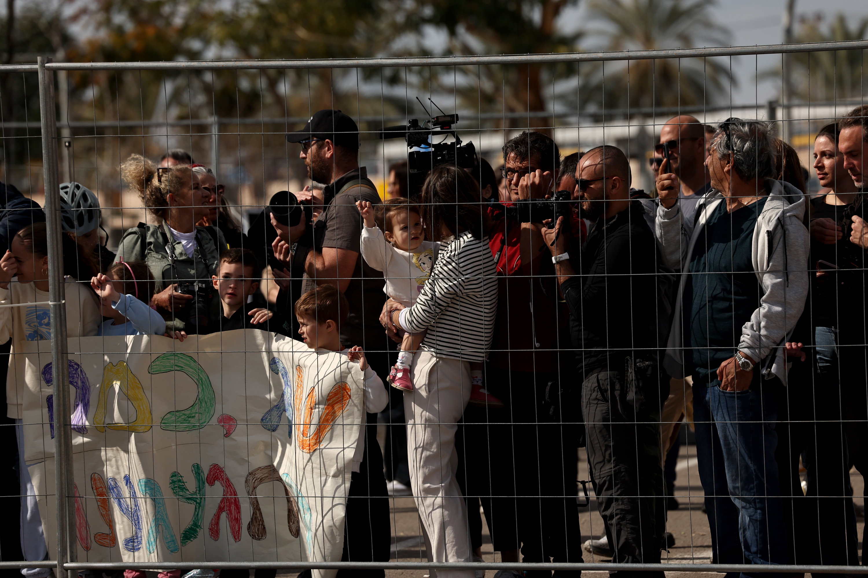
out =
[[(584, 22), (586, 4), (581, 2), (577, 8), (565, 12), (561, 18), (562, 26), (569, 28), (571, 23)], [(783, 42), (781, 23), (785, 7), (786, 0), (718, 0), (710, 11), (718, 23), (731, 31), (732, 46), (751, 46)], [(824, 27), (838, 12), (845, 12), (854, 26), (868, 16), (868, 0), (823, 0), (822, 3), (796, 0), (795, 22), (799, 22), (799, 16), (812, 17), (820, 11), (825, 16)], [(739, 84), (733, 88), (733, 102), (746, 104), (777, 98), (779, 82), (762, 81), (757, 85), (754, 77), (757, 70), (771, 68), (779, 62), (779, 55), (734, 57), (733, 75)]]

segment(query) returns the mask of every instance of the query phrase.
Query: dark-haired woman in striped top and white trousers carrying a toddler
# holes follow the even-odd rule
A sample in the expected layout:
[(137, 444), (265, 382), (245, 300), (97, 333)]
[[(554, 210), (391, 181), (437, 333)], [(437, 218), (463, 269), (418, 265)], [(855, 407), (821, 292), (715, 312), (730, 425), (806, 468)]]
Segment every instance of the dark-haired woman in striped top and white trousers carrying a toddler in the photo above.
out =
[[(458, 487), (455, 435), (470, 399), (470, 362), (488, 356), (497, 308), (496, 270), (479, 187), (456, 166), (436, 166), (419, 199), (425, 234), (440, 243), (416, 304), (386, 302), (391, 330), (427, 330), (404, 393), (407, 454), (433, 562), (470, 562), (467, 511)], [(473, 578), (471, 570), (438, 571)]]

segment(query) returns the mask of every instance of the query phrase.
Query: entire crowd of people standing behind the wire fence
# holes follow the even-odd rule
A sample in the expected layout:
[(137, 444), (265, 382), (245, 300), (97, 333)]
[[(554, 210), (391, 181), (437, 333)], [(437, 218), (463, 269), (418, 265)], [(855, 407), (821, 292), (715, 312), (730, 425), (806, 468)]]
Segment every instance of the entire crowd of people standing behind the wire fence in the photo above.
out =
[[(278, 193), (246, 233), (212, 169), (182, 151), (134, 154), (122, 178), (149, 223), (116, 255), (94, 193), (61, 185), (67, 334), (261, 328), (358, 362), (368, 415), (343, 561), (389, 560), (388, 496), (404, 494), (433, 562), (481, 561), (480, 504), (493, 548), (515, 563), (498, 578), (551, 576), (520, 562), (582, 562), (583, 550), (661, 562), (679, 505), (664, 466), (687, 419), (713, 562), (858, 565), (849, 472), (868, 468), (866, 120), (858, 107), (819, 131), (824, 188), (812, 198), (771, 123), (681, 115), (650, 159), (654, 196), (631, 187), (619, 148), (562, 159), (547, 134), (525, 131), (503, 146), (500, 178), (484, 159), (441, 164), (412, 191), (398, 163), (382, 202), (358, 166), (356, 123), (321, 110), (286, 138), (324, 188)], [(43, 211), (4, 187), (8, 353), (50, 337), (49, 263)], [(263, 270), (278, 287), (270, 300)], [(8, 381), (6, 395), (20, 448), (21, 386)], [(604, 530), (586, 542), (581, 447)], [(22, 553), (42, 560), (28, 464), (13, 461)]]

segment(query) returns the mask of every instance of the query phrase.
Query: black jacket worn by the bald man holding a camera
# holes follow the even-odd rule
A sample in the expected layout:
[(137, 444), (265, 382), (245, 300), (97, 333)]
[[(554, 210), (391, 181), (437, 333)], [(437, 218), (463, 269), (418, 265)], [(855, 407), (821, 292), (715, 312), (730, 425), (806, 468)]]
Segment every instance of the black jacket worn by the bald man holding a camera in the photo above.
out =
[(633, 201), (627, 211), (597, 221), (576, 257), (571, 262), (580, 275), (561, 290), (579, 368), (586, 376), (621, 372), (628, 355), (653, 355), (658, 259), (642, 206)]

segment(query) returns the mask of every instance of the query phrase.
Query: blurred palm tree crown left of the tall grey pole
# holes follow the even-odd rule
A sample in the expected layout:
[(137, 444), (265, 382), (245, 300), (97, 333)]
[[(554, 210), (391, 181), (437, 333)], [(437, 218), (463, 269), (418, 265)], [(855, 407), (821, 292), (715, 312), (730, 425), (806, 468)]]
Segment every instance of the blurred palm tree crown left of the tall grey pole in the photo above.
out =
[[(607, 50), (687, 49), (726, 44), (728, 32), (708, 14), (713, 0), (591, 0)], [(580, 98), (607, 108), (675, 107), (720, 100), (734, 83), (712, 58), (606, 62), (582, 65)]]

